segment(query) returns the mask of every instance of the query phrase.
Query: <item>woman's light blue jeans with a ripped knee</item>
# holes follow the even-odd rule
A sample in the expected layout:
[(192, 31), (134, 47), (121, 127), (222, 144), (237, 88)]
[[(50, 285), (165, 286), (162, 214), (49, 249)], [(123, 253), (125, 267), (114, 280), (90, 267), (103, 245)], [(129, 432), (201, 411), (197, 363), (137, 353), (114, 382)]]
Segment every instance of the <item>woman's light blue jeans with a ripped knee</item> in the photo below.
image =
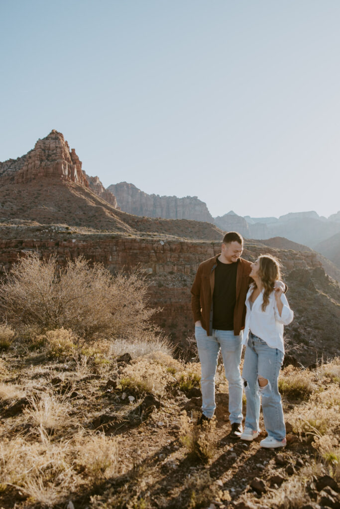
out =
[[(249, 333), (242, 372), (247, 398), (245, 427), (259, 431), (261, 399), (266, 431), (276, 440), (283, 440), (285, 437), (281, 396), (277, 384), (283, 357), (283, 352), (269, 347), (265, 341)], [(260, 387), (258, 377), (266, 379), (267, 385)]]

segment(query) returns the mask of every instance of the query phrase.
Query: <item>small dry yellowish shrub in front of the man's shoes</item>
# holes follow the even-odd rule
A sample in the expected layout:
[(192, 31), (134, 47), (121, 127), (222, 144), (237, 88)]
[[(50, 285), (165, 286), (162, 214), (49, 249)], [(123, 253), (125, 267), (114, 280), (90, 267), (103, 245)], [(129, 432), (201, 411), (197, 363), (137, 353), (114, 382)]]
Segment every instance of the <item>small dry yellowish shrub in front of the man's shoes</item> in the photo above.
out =
[(179, 440), (186, 447), (190, 455), (197, 456), (202, 461), (208, 461), (215, 454), (214, 442), (216, 419), (197, 424), (198, 412), (190, 419), (186, 413), (180, 416)]

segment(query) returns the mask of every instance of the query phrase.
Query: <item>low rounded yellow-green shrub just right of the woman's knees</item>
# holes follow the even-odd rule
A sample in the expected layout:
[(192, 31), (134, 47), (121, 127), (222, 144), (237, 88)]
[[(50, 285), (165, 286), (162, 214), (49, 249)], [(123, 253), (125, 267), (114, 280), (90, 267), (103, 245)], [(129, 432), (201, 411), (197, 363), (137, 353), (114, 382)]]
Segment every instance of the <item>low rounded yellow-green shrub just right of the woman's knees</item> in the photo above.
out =
[(288, 399), (308, 400), (316, 389), (313, 382), (315, 375), (310, 371), (302, 371), (297, 367), (287, 366), (279, 376), (279, 391)]

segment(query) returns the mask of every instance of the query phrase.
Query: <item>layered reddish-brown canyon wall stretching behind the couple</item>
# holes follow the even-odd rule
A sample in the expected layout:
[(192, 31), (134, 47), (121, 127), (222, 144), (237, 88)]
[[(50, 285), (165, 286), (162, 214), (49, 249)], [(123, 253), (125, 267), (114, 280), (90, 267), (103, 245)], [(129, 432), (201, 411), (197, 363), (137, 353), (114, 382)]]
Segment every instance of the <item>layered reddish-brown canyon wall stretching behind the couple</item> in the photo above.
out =
[[(197, 267), (220, 252), (221, 242), (112, 237), (74, 236), (64, 229), (40, 240), (2, 239), (0, 273), (8, 272), (18, 256), (33, 250), (38, 250), (41, 256), (57, 254), (61, 266), (78, 256), (101, 262), (112, 273), (138, 265), (149, 283), (150, 305), (162, 308), (155, 323), (175, 344), (185, 346), (187, 338), (194, 334), (190, 288)], [(295, 320), (286, 327), (286, 336), (291, 346), (299, 344), (301, 361), (308, 364), (321, 353), (340, 354), (334, 341), (340, 326), (340, 306), (336, 304), (340, 301), (340, 290), (325, 275), (317, 253), (283, 250), (251, 241), (246, 242), (243, 256), (254, 261), (264, 252), (278, 256), (283, 264), (283, 277), (288, 281), (288, 297), (295, 312)]]

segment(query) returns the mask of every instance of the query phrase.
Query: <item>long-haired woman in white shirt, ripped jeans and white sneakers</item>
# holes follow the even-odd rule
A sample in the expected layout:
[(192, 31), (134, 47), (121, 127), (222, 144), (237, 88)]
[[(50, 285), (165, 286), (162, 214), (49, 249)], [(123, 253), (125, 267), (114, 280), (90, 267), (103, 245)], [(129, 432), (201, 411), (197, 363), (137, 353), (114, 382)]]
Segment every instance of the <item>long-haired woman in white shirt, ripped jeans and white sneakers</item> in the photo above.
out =
[[(253, 440), (259, 433), (260, 397), (268, 436), (261, 447), (284, 447), (285, 426), (278, 376), (283, 362), (283, 325), (291, 323), (293, 311), (281, 287), (280, 265), (270, 254), (261, 255), (251, 266), (250, 286), (246, 298), (246, 323), (243, 344), (246, 353), (243, 383), (247, 398), (243, 440)], [(248, 337), (249, 335), (249, 337)]]

